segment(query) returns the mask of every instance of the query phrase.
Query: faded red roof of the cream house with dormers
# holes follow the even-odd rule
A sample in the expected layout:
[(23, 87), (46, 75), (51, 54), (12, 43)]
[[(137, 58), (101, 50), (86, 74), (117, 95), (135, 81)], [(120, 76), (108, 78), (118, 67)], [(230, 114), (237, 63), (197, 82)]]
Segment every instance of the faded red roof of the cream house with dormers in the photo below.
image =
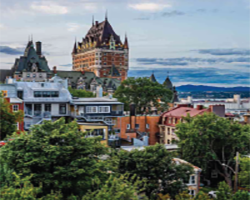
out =
[(203, 114), (204, 112), (209, 112), (209, 109), (202, 109), (202, 110), (197, 110), (195, 108), (190, 108), (190, 107), (177, 107), (174, 108), (170, 111), (167, 111), (162, 114), (162, 117), (186, 117), (187, 114), (190, 115), (190, 117), (194, 117), (196, 115)]

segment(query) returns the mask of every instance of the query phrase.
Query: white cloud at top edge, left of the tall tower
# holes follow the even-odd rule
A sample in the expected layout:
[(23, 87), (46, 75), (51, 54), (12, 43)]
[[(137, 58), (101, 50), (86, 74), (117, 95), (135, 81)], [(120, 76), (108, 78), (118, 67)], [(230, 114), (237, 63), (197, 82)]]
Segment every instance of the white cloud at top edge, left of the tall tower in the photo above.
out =
[(47, 14), (63, 15), (69, 12), (66, 6), (61, 6), (52, 2), (44, 2), (42, 4), (33, 3), (30, 8), (34, 11), (43, 12)]

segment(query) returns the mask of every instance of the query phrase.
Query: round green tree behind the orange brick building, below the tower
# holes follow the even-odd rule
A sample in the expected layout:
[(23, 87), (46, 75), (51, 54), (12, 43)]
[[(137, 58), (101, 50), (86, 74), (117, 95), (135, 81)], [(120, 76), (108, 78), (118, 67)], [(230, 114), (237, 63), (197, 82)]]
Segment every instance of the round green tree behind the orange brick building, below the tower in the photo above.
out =
[[(165, 108), (171, 100), (172, 92), (146, 77), (128, 78), (117, 88), (114, 96), (125, 104), (125, 110), (128, 111), (129, 104), (134, 103), (140, 113), (146, 112), (150, 107)], [(162, 104), (159, 99), (162, 99)]]

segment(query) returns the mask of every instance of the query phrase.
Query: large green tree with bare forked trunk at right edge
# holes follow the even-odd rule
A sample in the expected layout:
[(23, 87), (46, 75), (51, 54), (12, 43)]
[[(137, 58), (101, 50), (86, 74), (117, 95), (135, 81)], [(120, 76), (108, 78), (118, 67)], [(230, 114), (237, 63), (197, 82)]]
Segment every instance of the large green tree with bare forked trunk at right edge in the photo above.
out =
[(201, 167), (203, 172), (214, 164), (215, 170), (232, 186), (232, 171), (229, 167), (235, 165), (236, 152), (249, 152), (248, 125), (242, 126), (213, 113), (205, 113), (193, 118), (185, 117), (184, 123), (177, 125), (176, 134), (180, 139), (178, 145), (184, 160)]

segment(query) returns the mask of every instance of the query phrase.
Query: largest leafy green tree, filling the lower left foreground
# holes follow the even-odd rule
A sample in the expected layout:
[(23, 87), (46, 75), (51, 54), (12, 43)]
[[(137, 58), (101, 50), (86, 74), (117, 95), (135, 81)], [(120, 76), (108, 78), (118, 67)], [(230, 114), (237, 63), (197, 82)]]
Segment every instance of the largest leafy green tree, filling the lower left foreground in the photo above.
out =
[(29, 134), (12, 137), (14, 140), (1, 148), (0, 157), (22, 177), (32, 174), (34, 187), (42, 183), (42, 196), (51, 190), (61, 191), (64, 198), (82, 196), (99, 188), (109, 176), (105, 161), (100, 159), (107, 152), (101, 137), (86, 138), (75, 121), (45, 121), (33, 126)]

